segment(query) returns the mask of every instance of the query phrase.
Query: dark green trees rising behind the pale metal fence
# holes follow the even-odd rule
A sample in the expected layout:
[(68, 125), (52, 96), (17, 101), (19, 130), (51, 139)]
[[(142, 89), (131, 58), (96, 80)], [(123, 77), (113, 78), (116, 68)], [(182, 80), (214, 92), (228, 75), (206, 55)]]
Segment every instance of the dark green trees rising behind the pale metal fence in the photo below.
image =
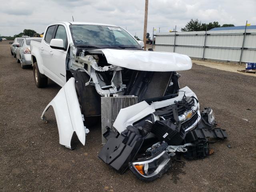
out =
[(198, 19), (191, 19), (181, 31), (208, 31), (216, 27), (234, 27), (234, 24), (223, 24), (220, 26), (218, 21), (202, 23)]

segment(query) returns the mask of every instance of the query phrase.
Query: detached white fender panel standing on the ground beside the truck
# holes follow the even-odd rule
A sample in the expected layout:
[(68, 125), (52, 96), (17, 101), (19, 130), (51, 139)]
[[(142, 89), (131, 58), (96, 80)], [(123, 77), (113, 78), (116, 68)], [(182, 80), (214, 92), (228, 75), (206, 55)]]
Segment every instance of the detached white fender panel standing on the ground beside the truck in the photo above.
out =
[(84, 127), (74, 78), (70, 78), (54, 99), (46, 106), (41, 116), (42, 119), (50, 106), (53, 107), (56, 116), (60, 144), (71, 148), (71, 138), (73, 133), (76, 132), (78, 139), (84, 145), (88, 129)]

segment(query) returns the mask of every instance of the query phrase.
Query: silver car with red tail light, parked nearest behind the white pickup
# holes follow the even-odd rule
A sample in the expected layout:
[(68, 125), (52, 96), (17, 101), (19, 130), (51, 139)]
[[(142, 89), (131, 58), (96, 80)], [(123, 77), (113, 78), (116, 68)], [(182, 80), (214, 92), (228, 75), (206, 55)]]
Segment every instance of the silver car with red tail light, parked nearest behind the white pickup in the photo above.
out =
[(39, 38), (39, 37), (22, 38), (16, 50), (16, 60), (18, 63), (21, 63), (22, 69), (32, 66), (31, 54), (30, 54), (30, 42), (32, 40), (41, 42), (42, 38)]

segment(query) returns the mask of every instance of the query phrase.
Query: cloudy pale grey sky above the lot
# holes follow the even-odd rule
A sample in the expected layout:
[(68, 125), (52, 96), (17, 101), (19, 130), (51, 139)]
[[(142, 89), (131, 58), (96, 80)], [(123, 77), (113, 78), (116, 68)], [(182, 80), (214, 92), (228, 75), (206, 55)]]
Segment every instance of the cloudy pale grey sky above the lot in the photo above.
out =
[[(191, 18), (209, 23), (256, 25), (256, 0), (149, 0), (147, 32), (180, 31)], [(58, 21), (98, 22), (126, 28), (142, 39), (145, 0), (0, 0), (0, 34), (44, 32)]]

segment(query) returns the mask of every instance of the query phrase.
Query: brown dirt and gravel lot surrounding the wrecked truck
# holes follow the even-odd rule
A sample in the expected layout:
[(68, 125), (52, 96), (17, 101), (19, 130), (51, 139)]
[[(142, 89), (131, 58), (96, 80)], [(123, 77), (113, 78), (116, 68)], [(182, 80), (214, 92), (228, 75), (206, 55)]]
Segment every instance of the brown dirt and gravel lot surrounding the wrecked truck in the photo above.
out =
[(180, 74), (181, 87), (197, 94), (201, 109), (214, 109), (229, 138), (211, 144), (208, 158), (182, 159), (162, 178), (142, 182), (98, 159), (100, 123), (85, 146), (61, 146), (53, 110), (47, 124), (40, 120), (60, 87), (36, 88), (32, 69), (22, 70), (8, 41), (0, 42), (0, 191), (256, 191), (256, 78), (201, 65)]

